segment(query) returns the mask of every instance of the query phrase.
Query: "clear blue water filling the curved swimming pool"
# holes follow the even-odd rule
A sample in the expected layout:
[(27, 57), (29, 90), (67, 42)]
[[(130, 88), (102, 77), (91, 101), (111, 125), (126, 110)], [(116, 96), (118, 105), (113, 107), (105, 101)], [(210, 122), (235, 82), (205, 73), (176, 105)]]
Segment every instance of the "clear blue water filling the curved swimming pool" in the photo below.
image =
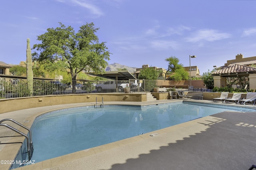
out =
[[(255, 111), (206, 104), (159, 104), (152, 106), (75, 107), (52, 111), (32, 125), (34, 153), (40, 162), (222, 111)], [(223, 108), (217, 108), (223, 107)]]

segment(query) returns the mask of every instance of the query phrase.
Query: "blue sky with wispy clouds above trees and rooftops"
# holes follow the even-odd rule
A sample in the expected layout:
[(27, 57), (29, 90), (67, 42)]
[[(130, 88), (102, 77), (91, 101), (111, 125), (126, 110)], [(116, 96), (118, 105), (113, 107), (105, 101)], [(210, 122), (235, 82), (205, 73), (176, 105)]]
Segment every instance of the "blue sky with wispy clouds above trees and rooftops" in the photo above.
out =
[(256, 56), (256, 0), (3, 0), (0, 61), (26, 61), (26, 39), (61, 22), (78, 31), (93, 22), (112, 53), (109, 64), (168, 67), (175, 56), (200, 74), (242, 53)]

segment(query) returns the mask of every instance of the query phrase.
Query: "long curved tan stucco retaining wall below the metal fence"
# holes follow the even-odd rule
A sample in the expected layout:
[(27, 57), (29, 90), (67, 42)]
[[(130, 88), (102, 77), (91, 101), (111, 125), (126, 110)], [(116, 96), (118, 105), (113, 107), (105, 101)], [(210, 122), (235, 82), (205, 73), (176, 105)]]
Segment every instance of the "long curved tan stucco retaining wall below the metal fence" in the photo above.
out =
[(100, 104), (102, 102), (124, 101), (124, 102), (145, 102), (146, 93), (120, 93), (120, 94), (67, 94), (56, 96), (33, 96), (26, 98), (0, 99), (0, 113), (28, 109), (33, 107), (52, 106), (59, 104), (92, 102)]

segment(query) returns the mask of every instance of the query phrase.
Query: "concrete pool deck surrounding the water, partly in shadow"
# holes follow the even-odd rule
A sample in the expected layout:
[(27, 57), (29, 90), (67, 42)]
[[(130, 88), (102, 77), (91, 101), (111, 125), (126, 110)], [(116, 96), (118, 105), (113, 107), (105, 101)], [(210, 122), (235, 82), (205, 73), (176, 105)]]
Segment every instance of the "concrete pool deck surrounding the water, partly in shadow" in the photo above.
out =
[[(176, 101), (180, 100), (104, 102), (104, 104), (148, 105)], [(191, 100), (191, 102), (215, 104), (209, 100)], [(34, 118), (42, 113), (64, 107), (85, 105), (94, 105), (94, 103), (65, 104), (12, 111), (0, 114), (0, 120), (11, 118), (30, 127)], [(236, 104), (223, 105), (236, 106)], [(248, 107), (254, 108), (254, 106)], [(8, 124), (13, 125), (9, 122)], [(13, 127), (16, 127), (15, 124)], [(149, 136), (152, 133), (156, 133), (155, 136)], [(23, 137), (6, 137), (10, 135), (16, 135), (16, 133), (8, 128), (0, 128), (1, 143), (24, 140)], [(21, 143), (0, 145), (0, 160), (13, 160), (20, 146)], [(256, 112), (222, 112), (52, 158), (17, 168), (17, 170), (247, 170), (252, 164), (256, 164)], [(0, 164), (1, 170), (7, 170), (9, 167), (9, 165)]]

